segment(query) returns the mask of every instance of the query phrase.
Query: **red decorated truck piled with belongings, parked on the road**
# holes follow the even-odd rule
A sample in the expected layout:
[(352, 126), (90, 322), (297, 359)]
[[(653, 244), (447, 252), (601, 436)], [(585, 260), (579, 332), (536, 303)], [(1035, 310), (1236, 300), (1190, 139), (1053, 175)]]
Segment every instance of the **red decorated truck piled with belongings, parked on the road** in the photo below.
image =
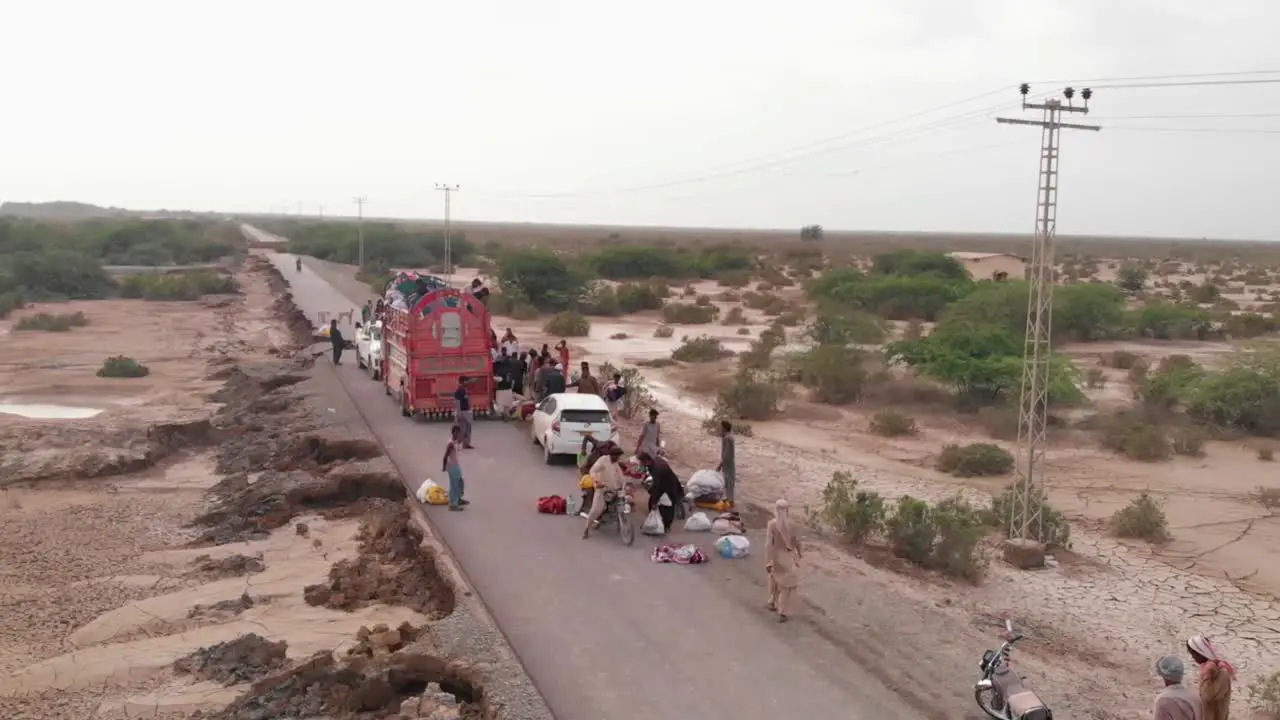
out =
[(440, 278), (399, 273), (383, 305), (383, 383), (406, 418), (452, 418), (466, 377), (471, 410), (493, 411), (489, 309)]

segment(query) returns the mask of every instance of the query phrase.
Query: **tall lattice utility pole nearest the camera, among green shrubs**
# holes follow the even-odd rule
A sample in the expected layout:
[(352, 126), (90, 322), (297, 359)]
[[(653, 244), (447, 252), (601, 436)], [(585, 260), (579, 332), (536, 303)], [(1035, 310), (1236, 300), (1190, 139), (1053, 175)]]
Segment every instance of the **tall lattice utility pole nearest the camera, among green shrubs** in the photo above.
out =
[(1023, 356), (1023, 384), (1018, 413), (1018, 479), (1009, 509), (1009, 537), (1005, 560), (1021, 568), (1044, 565), (1044, 427), (1048, 419), (1050, 334), (1053, 316), (1053, 240), (1057, 232), (1059, 133), (1062, 128), (1100, 131), (1100, 126), (1061, 122), (1062, 113), (1089, 111), (1093, 91), (1080, 91), (1083, 105), (1074, 105), (1075, 90), (1062, 90), (1062, 97), (1028, 102), (1030, 87), (1019, 87), (1024, 110), (1042, 110), (1039, 120), (996, 118), (997, 123), (1041, 128), (1039, 190), (1036, 197), (1036, 238), (1028, 268), (1030, 292), (1027, 301), (1027, 340)]

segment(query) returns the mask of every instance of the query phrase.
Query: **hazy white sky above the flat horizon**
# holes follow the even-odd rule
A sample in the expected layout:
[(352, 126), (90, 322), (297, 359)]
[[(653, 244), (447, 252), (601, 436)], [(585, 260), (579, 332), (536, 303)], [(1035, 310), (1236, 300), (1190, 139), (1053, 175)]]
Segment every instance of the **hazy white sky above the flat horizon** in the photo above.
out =
[[(146, 209), (439, 217), (452, 182), (460, 219), (1025, 231), (1039, 132), (991, 119), (1030, 117), (1018, 82), (1280, 79), (1276, 0), (14, 0), (0, 22), (0, 200)], [(1280, 237), (1280, 83), (1092, 108), (1060, 232)], [(1254, 117), (1149, 117), (1189, 114)]]

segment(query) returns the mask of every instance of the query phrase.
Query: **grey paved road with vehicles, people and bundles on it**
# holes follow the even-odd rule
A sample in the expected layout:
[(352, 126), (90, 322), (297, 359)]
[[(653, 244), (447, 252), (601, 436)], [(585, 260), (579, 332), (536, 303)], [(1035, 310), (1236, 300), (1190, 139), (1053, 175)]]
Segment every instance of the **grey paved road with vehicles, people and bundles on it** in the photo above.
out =
[[(271, 258), (308, 314), (358, 304)], [(439, 478), (448, 427), (402, 418), (353, 360), (339, 377), (406, 479)], [(525, 425), (479, 423), (475, 445), (462, 457), (472, 505), (430, 520), (561, 720), (925, 717), (803, 618), (778, 624), (758, 559), (658, 565), (643, 536), (584, 542), (580, 520), (535, 511), (576, 478), (543, 464)], [(709, 550), (709, 536), (691, 539)]]

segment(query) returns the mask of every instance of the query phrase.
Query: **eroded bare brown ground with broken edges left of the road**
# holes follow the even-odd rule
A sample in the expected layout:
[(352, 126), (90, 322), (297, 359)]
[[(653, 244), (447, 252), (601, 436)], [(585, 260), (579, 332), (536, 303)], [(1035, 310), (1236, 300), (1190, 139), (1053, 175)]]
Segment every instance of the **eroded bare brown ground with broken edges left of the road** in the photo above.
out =
[[(288, 359), (310, 324), (260, 261), (238, 279), (84, 304), (83, 357), (0, 350), (28, 396), (106, 407), (0, 420), (0, 717), (494, 716), (483, 670), (438, 648), (454, 591), (403, 486)], [(120, 352), (152, 375), (93, 378)]]

